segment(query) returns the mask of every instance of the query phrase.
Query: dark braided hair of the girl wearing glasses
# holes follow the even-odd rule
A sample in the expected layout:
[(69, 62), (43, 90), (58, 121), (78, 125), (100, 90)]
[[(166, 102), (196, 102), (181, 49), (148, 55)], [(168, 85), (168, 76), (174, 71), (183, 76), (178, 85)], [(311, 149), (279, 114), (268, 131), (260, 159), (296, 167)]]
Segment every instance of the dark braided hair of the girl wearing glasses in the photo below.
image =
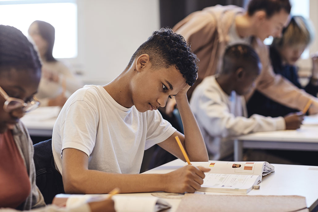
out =
[(0, 73), (11, 68), (41, 71), (41, 62), (33, 44), (12, 26), (0, 25)]

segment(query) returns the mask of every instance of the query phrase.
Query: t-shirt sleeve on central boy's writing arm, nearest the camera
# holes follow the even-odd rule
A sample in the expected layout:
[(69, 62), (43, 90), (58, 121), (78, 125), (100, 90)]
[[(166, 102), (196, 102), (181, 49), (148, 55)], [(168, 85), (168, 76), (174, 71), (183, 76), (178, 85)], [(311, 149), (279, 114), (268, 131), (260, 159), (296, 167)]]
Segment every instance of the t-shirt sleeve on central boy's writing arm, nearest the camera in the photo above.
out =
[(74, 148), (89, 155), (95, 146), (97, 109), (85, 100), (73, 102), (67, 109), (65, 122), (61, 126), (62, 149)]

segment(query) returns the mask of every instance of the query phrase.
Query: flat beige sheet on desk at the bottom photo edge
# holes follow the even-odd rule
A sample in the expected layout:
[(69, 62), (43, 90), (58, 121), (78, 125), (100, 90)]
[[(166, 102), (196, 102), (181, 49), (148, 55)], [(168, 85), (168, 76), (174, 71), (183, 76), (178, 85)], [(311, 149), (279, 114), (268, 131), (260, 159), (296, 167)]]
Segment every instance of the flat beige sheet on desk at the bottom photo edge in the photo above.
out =
[(185, 194), (176, 212), (309, 212), (303, 196)]

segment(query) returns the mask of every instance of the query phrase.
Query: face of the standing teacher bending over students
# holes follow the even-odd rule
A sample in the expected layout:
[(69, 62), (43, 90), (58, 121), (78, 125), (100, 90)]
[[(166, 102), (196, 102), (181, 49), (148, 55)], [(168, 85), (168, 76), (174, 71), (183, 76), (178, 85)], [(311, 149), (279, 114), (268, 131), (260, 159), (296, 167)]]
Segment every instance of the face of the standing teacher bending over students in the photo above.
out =
[(286, 26), (289, 14), (285, 10), (276, 12), (272, 17), (267, 18), (264, 11), (257, 12), (257, 26), (255, 27), (255, 36), (264, 40), (269, 36), (281, 37), (281, 32), (284, 26)]

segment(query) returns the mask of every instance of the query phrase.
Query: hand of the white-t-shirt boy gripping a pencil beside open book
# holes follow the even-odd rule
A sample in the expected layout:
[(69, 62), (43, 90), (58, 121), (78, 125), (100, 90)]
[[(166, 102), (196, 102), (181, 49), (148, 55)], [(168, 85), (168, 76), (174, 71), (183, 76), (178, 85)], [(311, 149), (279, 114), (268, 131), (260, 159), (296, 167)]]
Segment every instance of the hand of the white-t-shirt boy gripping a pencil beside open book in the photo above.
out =
[(211, 169), (202, 166), (187, 165), (182, 168), (165, 174), (165, 192), (172, 193), (194, 193), (201, 188), (203, 179), (205, 177), (204, 172), (208, 172)]

